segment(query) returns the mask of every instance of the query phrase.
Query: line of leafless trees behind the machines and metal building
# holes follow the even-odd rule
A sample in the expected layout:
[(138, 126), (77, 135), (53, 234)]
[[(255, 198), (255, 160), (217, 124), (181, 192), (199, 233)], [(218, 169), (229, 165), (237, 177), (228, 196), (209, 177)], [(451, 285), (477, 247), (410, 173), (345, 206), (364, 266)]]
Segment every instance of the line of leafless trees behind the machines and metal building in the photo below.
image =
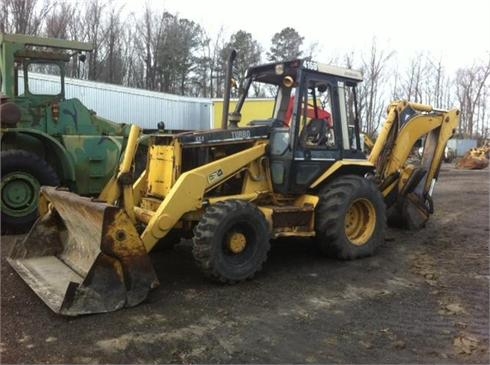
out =
[[(221, 29), (210, 35), (200, 24), (168, 11), (155, 12), (147, 4), (143, 15), (126, 21), (114, 0), (86, 0), (74, 5), (61, 0), (0, 0), (0, 31), (46, 35), (90, 42), (94, 51), (79, 68), (73, 62), (67, 74), (91, 80), (125, 84), (182, 95), (221, 97), (224, 70), (231, 48), (238, 50), (234, 77), (241, 84), (245, 72), (261, 61), (262, 47), (253, 35), (240, 30), (228, 37)], [(303, 42), (292, 28), (275, 34), (270, 59), (313, 57), (318, 43), (300, 50)], [(280, 55), (283, 55), (280, 57)], [(488, 137), (490, 57), (488, 62), (448, 74), (441, 59), (414, 56), (406, 68), (391, 62), (393, 52), (380, 50), (373, 39), (369, 51), (356, 59), (332, 55), (327, 62), (345, 62), (359, 68), (364, 83), (358, 89), (362, 131), (373, 136), (384, 119), (388, 96), (450, 108), (459, 103), (460, 133)], [(490, 56), (490, 55), (489, 55)], [(394, 67), (392, 72), (389, 72)], [(80, 71), (82, 74), (80, 74)], [(265, 95), (264, 90), (255, 90)]]

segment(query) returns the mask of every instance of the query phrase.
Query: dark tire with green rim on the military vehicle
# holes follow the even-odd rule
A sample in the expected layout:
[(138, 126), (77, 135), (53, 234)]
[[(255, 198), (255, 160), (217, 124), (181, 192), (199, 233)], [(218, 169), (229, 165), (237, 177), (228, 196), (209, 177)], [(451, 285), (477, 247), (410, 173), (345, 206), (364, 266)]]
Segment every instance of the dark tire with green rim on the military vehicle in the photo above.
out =
[(58, 186), (53, 168), (39, 156), (22, 150), (2, 151), (2, 234), (24, 233), (38, 217), (41, 185)]

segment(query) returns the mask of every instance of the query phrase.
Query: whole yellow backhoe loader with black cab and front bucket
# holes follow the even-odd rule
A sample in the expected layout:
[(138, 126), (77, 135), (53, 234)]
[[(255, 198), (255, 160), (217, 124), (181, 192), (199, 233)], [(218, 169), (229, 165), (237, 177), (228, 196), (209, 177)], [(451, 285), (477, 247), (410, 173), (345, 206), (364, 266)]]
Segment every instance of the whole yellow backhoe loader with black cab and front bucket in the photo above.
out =
[[(387, 216), (408, 228), (425, 224), (458, 110), (392, 103), (366, 159), (359, 72), (305, 60), (251, 67), (229, 114), (233, 56), (221, 129), (151, 136), (146, 170), (133, 178), (133, 126), (119, 171), (98, 199), (42, 187), (41, 218), (8, 262), (53, 311), (137, 305), (158, 285), (148, 254), (171, 236), (192, 236), (204, 274), (236, 283), (261, 269), (271, 238), (312, 237), (323, 252), (355, 259), (383, 241)], [(241, 121), (249, 90), (260, 87), (276, 89), (273, 115)], [(322, 112), (312, 114), (312, 106)], [(420, 165), (407, 164), (423, 136)]]

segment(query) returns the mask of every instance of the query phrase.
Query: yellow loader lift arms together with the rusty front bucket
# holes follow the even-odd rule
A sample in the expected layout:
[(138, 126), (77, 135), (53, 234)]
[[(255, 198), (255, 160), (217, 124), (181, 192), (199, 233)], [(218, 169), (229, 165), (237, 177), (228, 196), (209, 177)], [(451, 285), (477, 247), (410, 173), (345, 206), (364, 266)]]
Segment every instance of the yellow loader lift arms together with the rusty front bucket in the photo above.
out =
[[(133, 126), (119, 170), (98, 199), (41, 188), (42, 219), (14, 247), (8, 262), (57, 313), (75, 316), (139, 304), (158, 285), (147, 253), (185, 213), (202, 207), (206, 192), (250, 169), (265, 155), (262, 133), (267, 128), (250, 130), (249, 139), (239, 139), (252, 147), (180, 174), (156, 211), (151, 211), (136, 206), (138, 194), (133, 194), (146, 172), (134, 185), (128, 177), (140, 132)], [(179, 144), (177, 138), (173, 140)], [(253, 200), (257, 195), (240, 194), (237, 199)], [(141, 234), (137, 222), (147, 223)]]

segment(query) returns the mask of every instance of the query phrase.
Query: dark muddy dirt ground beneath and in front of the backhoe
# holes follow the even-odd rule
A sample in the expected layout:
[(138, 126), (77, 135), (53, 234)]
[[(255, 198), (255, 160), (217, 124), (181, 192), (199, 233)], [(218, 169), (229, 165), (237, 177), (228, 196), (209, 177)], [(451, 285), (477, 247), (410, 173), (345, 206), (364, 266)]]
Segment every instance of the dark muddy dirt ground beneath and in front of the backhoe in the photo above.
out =
[(1, 363), (489, 363), (489, 177), (443, 166), (427, 227), (389, 229), (372, 258), (275, 242), (254, 280), (223, 286), (183, 242), (152, 254), (142, 305), (78, 318), (36, 297), (2, 237)]

